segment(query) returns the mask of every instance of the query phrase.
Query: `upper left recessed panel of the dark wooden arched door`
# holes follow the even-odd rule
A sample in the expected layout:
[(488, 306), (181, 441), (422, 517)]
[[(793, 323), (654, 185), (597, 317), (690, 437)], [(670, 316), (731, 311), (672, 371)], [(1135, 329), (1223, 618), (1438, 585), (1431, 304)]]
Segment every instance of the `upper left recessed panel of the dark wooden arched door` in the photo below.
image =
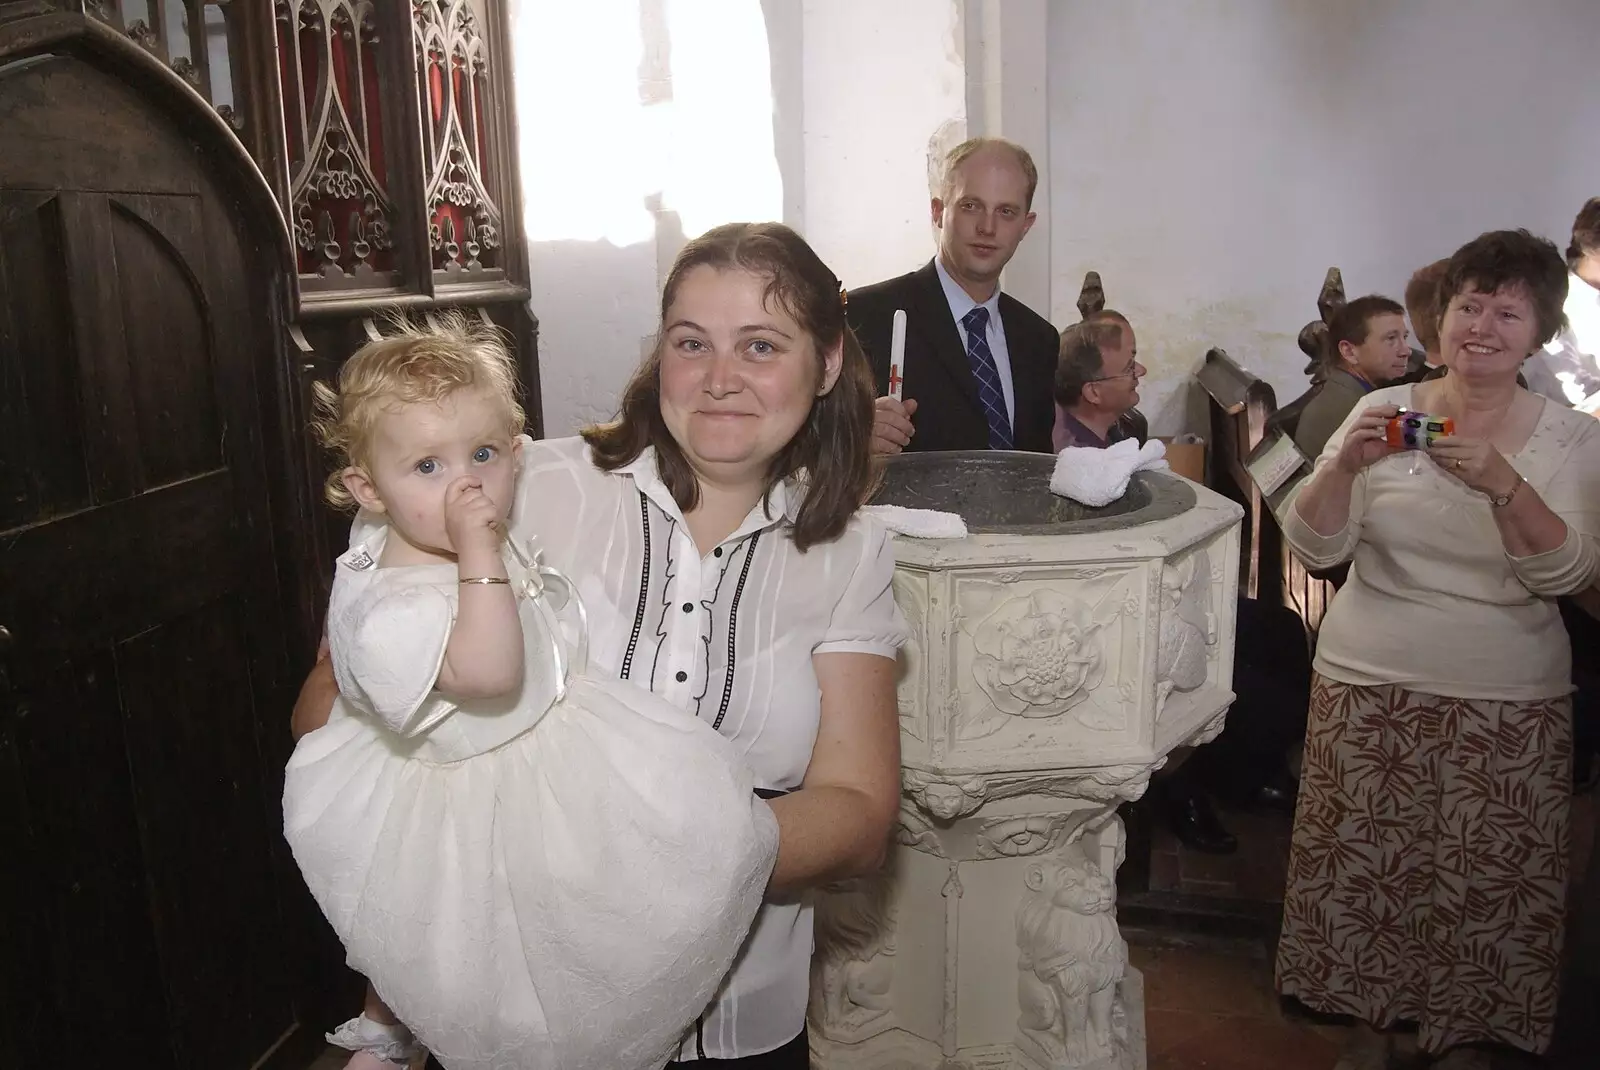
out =
[(0, 190), (0, 531), (90, 502), (59, 202)]

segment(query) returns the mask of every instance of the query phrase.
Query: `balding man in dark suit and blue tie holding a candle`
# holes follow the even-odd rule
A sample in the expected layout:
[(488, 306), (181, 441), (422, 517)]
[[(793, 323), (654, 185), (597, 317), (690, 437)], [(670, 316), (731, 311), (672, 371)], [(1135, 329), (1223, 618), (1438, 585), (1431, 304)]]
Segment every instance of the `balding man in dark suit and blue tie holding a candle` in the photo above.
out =
[[(1000, 138), (965, 141), (944, 160), (933, 198), (939, 254), (888, 281), (851, 289), (850, 325), (878, 382), (875, 453), (1051, 453), (1059, 336), (1000, 293), (1000, 272), (1034, 226), (1038, 170)], [(890, 384), (894, 310), (906, 310), (904, 401)]]

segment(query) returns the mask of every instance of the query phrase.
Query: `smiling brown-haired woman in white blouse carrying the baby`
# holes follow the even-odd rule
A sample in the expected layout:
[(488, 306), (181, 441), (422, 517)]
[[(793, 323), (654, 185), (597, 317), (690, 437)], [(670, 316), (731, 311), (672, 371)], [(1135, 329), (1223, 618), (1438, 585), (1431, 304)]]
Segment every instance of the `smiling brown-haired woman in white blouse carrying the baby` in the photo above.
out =
[[(872, 379), (838, 280), (787, 227), (730, 224), (678, 254), (619, 417), (581, 438), (520, 441), (514, 501), (496, 502), (510, 537), (531, 539), (576, 587), (592, 670), (714, 729), (776, 819), (765, 902), (709, 1006), (675, 1024), (675, 1062), (808, 1065), (800, 892), (877, 868), (898, 814), (906, 625), (888, 534), (856, 513), (875, 478), (870, 430)], [(498, 576), (459, 582), (502, 590)], [(333, 699), (318, 669), (296, 707), (302, 750)], [(530, 739), (539, 776), (539, 726)], [(582, 828), (573, 836), (581, 844)], [(701, 859), (682, 865), (698, 873)], [(381, 1025), (382, 1001), (368, 1011)]]

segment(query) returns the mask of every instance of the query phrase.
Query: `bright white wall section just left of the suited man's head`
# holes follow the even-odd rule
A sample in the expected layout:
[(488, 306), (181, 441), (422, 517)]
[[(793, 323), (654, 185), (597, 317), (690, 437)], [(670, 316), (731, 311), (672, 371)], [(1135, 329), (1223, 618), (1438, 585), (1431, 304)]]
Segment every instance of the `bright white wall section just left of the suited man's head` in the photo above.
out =
[[(966, 115), (960, 0), (803, 0), (805, 202), (846, 286), (933, 256), (928, 142)], [(770, 22), (771, 26), (771, 22)]]

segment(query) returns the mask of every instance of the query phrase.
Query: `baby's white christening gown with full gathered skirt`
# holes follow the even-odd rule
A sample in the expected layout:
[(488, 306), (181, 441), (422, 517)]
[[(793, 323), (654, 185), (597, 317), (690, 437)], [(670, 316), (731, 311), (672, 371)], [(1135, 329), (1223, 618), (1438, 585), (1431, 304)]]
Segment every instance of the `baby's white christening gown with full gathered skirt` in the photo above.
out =
[(445, 699), (456, 566), (376, 568), (381, 541), (339, 558), (341, 701), (286, 771), (306, 884), (450, 1070), (658, 1070), (760, 907), (771, 809), (709, 725), (586, 672), (576, 589), (525, 555), (520, 693)]

